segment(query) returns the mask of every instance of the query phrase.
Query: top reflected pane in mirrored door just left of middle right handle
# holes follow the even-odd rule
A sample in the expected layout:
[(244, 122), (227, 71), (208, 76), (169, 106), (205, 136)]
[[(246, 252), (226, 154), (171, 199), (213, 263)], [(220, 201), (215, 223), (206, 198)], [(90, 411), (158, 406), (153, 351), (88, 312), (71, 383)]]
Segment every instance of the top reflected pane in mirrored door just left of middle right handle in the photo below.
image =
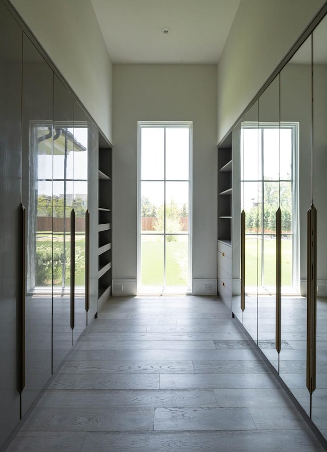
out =
[(264, 179), (279, 179), (279, 128), (263, 130)]

